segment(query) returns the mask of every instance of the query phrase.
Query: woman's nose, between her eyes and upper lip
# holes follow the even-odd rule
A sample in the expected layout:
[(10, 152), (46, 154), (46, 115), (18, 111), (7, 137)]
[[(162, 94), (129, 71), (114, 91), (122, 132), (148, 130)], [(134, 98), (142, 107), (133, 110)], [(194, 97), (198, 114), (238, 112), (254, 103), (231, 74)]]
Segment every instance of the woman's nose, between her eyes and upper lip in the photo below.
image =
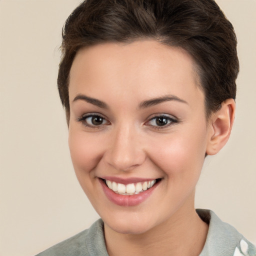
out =
[(110, 137), (110, 147), (104, 153), (104, 160), (117, 170), (132, 170), (146, 158), (142, 145), (138, 132), (127, 125), (119, 127)]

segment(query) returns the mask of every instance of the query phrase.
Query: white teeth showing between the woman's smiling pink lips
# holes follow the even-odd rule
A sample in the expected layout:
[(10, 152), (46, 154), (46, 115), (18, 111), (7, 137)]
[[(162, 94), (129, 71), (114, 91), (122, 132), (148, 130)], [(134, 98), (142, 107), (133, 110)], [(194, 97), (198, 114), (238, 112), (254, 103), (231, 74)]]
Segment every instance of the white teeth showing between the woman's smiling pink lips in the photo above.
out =
[(111, 189), (116, 194), (121, 194), (121, 195), (139, 194), (151, 188), (159, 180), (160, 178), (157, 178), (157, 179), (152, 179), (148, 181), (130, 183), (125, 185), (122, 183), (117, 183), (115, 181), (103, 179), (103, 181), (105, 182), (105, 184), (109, 189)]

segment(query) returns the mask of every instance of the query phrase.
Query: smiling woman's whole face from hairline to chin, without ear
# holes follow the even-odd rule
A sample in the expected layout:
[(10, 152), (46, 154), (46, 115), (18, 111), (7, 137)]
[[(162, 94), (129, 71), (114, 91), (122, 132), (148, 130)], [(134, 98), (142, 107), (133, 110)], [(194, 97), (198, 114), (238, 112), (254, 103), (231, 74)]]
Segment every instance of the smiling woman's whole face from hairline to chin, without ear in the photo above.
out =
[(153, 40), (81, 49), (69, 100), (74, 170), (107, 226), (142, 233), (194, 210), (210, 132), (189, 54)]

